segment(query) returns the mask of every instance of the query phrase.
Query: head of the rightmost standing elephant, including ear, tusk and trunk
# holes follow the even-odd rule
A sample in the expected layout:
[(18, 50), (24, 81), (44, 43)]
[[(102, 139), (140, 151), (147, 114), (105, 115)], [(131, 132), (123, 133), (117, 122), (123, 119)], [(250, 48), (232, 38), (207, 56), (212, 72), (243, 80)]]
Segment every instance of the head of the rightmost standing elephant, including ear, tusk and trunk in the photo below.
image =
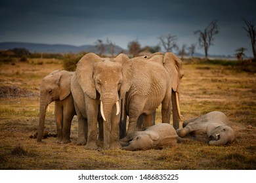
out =
[(179, 129), (181, 112), (179, 108), (179, 95), (181, 92), (181, 79), (184, 76), (182, 61), (171, 52), (156, 52), (148, 56), (150, 61), (156, 61), (165, 67), (171, 78), (172, 85), (172, 106), (173, 106), (173, 127)]

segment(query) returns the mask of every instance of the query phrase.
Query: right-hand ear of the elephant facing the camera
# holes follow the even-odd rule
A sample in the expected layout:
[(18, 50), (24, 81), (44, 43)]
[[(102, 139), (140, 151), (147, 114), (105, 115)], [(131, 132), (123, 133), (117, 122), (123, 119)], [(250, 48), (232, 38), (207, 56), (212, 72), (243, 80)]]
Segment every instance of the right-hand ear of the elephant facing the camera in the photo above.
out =
[(133, 80), (133, 64), (125, 54), (119, 54), (114, 61), (121, 63), (123, 70), (123, 82), (120, 87), (121, 99), (125, 98), (125, 93), (131, 88)]

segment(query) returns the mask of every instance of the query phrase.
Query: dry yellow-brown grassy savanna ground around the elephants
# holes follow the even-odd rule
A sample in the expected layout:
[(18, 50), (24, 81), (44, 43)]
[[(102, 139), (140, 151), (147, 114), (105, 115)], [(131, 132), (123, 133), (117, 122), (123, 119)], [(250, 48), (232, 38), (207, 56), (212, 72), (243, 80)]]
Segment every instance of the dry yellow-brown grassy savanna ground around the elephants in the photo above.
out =
[[(77, 118), (72, 122), (70, 144), (56, 144), (54, 137), (41, 143), (30, 138), (39, 123), (41, 79), (62, 68), (61, 59), (1, 62), (0, 169), (256, 169), (255, 72), (242, 71), (232, 61), (184, 62), (183, 120), (213, 110), (224, 112), (236, 133), (234, 143), (186, 142), (162, 150), (127, 152), (77, 146)], [(53, 111), (52, 104), (45, 123), (49, 133), (56, 133)]]

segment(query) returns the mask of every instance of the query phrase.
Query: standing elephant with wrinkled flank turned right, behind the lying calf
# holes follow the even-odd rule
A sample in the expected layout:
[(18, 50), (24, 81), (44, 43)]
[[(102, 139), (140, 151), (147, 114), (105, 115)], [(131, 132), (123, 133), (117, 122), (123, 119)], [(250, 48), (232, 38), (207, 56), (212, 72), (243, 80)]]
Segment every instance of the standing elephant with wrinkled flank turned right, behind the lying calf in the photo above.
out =
[[(140, 131), (142, 125), (154, 125), (154, 112), (160, 104), (162, 122), (170, 123), (172, 109), (173, 126), (178, 129), (181, 119), (179, 92), (181, 78), (184, 75), (181, 59), (171, 52), (157, 52), (148, 57), (133, 58), (131, 61), (133, 81), (125, 98), (125, 113), (129, 116), (127, 134)], [(125, 137), (125, 119), (122, 116), (120, 138)]]

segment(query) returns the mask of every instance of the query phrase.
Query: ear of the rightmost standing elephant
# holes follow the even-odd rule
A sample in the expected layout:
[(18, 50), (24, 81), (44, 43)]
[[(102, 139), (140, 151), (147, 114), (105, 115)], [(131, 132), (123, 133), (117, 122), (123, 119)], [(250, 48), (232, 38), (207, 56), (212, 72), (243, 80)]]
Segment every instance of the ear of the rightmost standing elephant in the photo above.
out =
[(163, 57), (163, 67), (165, 67), (169, 73), (173, 91), (179, 92), (179, 84), (182, 76), (184, 75), (181, 59), (171, 52), (166, 52), (165, 56)]

